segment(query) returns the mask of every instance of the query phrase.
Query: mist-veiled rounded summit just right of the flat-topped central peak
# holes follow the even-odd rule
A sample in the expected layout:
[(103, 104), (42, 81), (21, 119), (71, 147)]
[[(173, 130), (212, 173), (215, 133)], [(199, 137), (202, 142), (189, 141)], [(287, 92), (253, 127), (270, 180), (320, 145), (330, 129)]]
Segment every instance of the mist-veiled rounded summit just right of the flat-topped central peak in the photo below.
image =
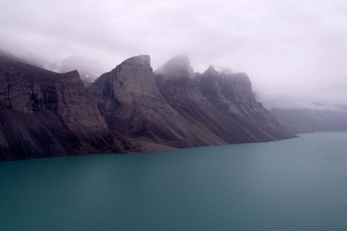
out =
[(163, 75), (164, 79), (188, 79), (193, 77), (194, 72), (188, 56), (179, 54), (160, 66), (154, 74)]

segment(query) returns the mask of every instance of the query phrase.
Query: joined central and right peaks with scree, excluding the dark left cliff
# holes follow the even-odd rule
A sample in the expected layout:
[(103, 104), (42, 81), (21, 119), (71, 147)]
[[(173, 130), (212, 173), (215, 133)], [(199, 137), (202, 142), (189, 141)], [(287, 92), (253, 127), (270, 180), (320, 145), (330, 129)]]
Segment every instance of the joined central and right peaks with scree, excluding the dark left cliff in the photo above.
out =
[[(184, 148), (294, 137), (255, 101), (244, 73), (210, 69), (194, 73), (188, 57), (178, 55), (153, 73), (150, 57), (139, 55), (87, 88), (110, 129), (140, 143)], [(210, 81), (216, 83), (210, 86)], [(214, 97), (214, 91), (220, 95)]]

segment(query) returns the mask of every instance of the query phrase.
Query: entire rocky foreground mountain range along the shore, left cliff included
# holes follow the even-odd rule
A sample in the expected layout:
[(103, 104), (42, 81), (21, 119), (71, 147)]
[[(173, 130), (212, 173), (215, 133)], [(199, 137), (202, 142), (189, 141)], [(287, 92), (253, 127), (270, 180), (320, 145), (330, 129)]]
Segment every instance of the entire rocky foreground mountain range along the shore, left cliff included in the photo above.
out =
[(86, 88), (0, 57), (0, 160), (177, 150), (296, 137), (254, 98), (245, 73), (194, 72), (177, 55), (153, 72), (131, 57)]

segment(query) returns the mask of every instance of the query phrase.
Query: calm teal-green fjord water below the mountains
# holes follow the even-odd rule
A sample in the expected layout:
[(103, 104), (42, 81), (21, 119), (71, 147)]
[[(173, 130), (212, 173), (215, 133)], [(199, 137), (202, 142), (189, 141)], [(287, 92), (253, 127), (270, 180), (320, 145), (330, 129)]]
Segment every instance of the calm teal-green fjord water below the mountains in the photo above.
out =
[(0, 163), (0, 230), (346, 230), (347, 132)]

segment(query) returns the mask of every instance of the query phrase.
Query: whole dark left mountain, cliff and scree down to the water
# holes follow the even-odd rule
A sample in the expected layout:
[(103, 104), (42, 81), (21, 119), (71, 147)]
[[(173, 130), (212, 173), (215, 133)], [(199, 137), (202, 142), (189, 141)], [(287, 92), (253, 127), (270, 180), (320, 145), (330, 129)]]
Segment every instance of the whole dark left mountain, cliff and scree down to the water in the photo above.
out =
[(117, 150), (77, 71), (0, 57), (0, 160)]

